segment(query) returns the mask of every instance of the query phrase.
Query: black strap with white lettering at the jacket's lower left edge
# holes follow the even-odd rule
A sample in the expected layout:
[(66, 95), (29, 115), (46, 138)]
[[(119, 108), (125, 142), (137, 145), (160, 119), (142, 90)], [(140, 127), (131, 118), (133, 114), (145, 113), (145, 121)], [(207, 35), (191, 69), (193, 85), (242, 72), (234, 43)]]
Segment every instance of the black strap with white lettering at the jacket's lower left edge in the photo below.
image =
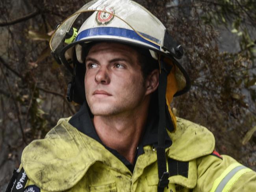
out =
[(23, 192), (27, 181), (28, 177), (23, 168), (20, 170), (20, 172), (14, 170), (6, 192)]

